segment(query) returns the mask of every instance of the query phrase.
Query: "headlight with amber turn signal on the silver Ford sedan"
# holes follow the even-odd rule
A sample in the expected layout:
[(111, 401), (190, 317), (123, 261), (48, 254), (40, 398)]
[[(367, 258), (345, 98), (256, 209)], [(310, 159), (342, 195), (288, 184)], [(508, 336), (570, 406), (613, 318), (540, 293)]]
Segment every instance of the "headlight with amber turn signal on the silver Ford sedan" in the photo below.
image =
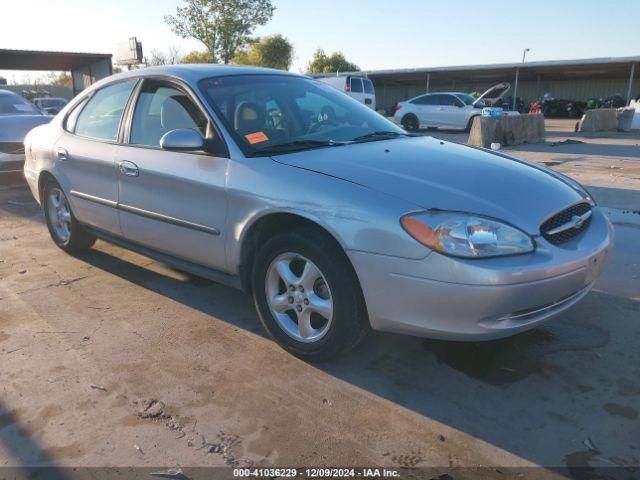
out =
[(496, 257), (535, 250), (533, 240), (526, 233), (498, 220), (469, 213), (410, 213), (402, 217), (400, 223), (418, 242), (456, 257)]

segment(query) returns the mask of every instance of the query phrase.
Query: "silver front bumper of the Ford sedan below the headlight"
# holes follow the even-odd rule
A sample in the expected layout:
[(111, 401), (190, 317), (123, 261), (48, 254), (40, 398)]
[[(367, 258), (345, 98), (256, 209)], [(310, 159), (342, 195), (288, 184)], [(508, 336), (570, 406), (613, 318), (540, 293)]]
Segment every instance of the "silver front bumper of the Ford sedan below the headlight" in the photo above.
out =
[(347, 252), (375, 330), (446, 340), (491, 340), (528, 330), (582, 299), (600, 275), (613, 227), (598, 209), (588, 229), (534, 253), (422, 260)]

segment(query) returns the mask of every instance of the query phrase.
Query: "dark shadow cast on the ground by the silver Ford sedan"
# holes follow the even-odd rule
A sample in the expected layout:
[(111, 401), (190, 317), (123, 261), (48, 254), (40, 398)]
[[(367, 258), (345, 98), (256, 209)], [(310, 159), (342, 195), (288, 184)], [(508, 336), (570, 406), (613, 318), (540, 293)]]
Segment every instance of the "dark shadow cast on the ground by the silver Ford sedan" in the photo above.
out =
[[(180, 280), (147, 270), (114, 256), (118, 251), (98, 244), (79, 258), (265, 335), (243, 293), (207, 280)], [(229, 303), (244, 303), (246, 311), (230, 314), (225, 307)], [(640, 370), (629, 368), (640, 365), (640, 337), (637, 331), (628, 332), (631, 343), (612, 347), (610, 325), (604, 321), (612, 312), (625, 320), (616, 328), (628, 328), (630, 319), (640, 314), (640, 302), (593, 292), (547, 326), (491, 342), (372, 332), (353, 352), (312, 367), (535, 463), (563, 466), (545, 464), (559, 458), (573, 467), (640, 465), (637, 455), (629, 456), (631, 445), (622, 446), (624, 454), (619, 452), (618, 443), (626, 440), (608, 437), (617, 417), (607, 413), (606, 403), (631, 415), (640, 410)], [(624, 358), (605, 364), (602, 356), (614, 348)], [(607, 371), (611, 368), (614, 371)], [(606, 447), (602, 454), (584, 446), (588, 437)]]

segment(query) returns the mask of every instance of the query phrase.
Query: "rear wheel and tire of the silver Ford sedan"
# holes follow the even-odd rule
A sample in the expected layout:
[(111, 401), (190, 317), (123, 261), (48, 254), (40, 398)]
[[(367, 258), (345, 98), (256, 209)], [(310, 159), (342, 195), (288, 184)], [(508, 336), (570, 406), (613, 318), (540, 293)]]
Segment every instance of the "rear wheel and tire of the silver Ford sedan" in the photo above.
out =
[(93, 246), (96, 237), (76, 220), (69, 200), (55, 180), (49, 180), (43, 190), (42, 207), (47, 228), (54, 243), (67, 253), (76, 253)]

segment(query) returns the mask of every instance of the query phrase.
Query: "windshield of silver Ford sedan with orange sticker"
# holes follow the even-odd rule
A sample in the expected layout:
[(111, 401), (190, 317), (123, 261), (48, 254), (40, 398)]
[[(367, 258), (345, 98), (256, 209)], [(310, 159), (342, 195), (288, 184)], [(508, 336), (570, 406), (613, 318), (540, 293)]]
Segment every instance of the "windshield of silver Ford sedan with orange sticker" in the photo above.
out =
[[(245, 154), (375, 141), (405, 134), (380, 114), (315, 80), (237, 75), (200, 89)], [(285, 150), (284, 147), (287, 147)]]

